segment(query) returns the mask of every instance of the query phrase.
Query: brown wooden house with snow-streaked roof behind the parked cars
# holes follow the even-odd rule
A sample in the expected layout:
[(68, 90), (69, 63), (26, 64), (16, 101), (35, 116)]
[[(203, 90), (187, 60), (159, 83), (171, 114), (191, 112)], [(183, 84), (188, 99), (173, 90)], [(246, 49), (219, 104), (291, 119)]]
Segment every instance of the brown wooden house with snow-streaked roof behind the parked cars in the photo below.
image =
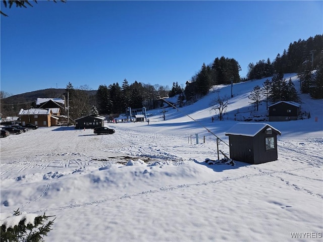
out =
[(18, 116), (20, 117), (21, 124), (33, 124), (38, 127), (50, 127), (57, 125), (58, 118), (52, 117), (52, 111), (50, 108), (40, 109), (20, 109)]

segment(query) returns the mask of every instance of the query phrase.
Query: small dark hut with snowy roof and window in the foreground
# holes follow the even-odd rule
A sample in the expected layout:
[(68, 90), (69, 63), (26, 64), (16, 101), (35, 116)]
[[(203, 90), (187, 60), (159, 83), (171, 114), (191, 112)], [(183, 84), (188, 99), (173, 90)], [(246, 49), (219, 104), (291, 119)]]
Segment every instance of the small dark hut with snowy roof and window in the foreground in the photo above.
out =
[(226, 135), (233, 160), (260, 164), (278, 159), (277, 135), (281, 132), (268, 124), (238, 123)]

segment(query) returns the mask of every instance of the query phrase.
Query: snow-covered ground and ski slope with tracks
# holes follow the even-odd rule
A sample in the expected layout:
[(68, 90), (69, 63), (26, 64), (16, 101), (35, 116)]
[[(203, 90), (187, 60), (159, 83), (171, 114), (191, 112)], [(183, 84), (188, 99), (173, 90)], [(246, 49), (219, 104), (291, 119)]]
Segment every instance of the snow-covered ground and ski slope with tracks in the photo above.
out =
[(203, 162), (218, 158), (205, 128), (229, 154), (225, 133), (234, 114), (255, 114), (248, 94), (264, 80), (234, 85), (224, 121), (211, 122), (209, 103), (230, 86), (166, 108), (166, 120), (156, 109), (149, 125), (106, 124), (113, 135), (50, 127), (1, 139), (2, 215), (56, 215), (45, 241), (322, 241), (323, 100), (301, 95), (311, 118), (268, 123), (282, 133), (278, 160)]

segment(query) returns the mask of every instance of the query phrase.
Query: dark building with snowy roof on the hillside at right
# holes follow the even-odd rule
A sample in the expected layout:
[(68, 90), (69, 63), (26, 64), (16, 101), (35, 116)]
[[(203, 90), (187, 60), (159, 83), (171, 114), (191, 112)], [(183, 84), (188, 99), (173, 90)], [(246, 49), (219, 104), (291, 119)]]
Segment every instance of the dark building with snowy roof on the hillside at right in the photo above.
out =
[(301, 104), (296, 102), (280, 101), (268, 106), (269, 120), (275, 121), (289, 121), (297, 120), (301, 111)]

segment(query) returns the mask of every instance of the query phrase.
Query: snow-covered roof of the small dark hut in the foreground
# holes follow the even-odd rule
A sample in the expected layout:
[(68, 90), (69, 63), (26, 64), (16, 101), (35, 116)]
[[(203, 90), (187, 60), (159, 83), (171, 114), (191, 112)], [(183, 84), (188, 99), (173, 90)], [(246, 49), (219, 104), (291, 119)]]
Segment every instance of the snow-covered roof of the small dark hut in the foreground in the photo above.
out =
[(226, 135), (242, 135), (242, 136), (249, 136), (254, 137), (258, 134), (261, 130), (265, 128), (272, 128), (277, 134), (281, 135), (282, 133), (275, 129), (273, 126), (268, 124), (262, 123), (238, 123), (233, 126), (230, 130), (226, 132)]

